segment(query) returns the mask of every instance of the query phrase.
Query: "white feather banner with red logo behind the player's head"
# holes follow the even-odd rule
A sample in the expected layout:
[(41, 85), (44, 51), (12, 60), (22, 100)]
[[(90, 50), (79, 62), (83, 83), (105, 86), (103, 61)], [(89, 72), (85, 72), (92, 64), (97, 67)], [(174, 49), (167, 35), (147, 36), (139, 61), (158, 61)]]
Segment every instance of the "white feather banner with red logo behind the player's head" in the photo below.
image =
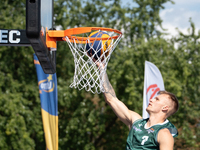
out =
[(144, 119), (149, 118), (149, 114), (146, 111), (149, 100), (156, 97), (160, 90), (165, 90), (165, 87), (159, 69), (153, 63), (145, 61), (142, 113)]

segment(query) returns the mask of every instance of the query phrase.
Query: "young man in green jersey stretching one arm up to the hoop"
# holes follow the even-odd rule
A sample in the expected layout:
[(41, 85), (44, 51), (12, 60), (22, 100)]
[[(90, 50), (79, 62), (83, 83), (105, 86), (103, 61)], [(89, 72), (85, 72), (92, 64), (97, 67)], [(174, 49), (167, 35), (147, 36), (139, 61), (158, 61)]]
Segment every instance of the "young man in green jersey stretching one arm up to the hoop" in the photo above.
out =
[[(104, 67), (98, 62), (97, 66), (100, 70)], [(176, 137), (178, 132), (167, 118), (177, 112), (179, 107), (174, 94), (160, 91), (158, 96), (150, 100), (146, 109), (150, 117), (142, 119), (138, 113), (129, 110), (118, 100), (106, 73), (103, 76), (103, 87), (105, 101), (129, 128), (126, 150), (173, 150), (173, 137)]]

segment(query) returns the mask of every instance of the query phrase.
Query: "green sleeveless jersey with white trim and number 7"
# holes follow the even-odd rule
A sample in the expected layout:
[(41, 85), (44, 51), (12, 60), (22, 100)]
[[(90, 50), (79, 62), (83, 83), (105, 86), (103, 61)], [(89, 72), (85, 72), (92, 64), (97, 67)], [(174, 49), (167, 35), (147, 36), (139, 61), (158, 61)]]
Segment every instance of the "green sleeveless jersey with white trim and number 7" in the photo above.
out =
[(178, 136), (176, 127), (169, 121), (146, 128), (148, 119), (136, 120), (129, 132), (126, 150), (159, 150), (157, 135), (161, 129), (167, 128), (173, 137)]

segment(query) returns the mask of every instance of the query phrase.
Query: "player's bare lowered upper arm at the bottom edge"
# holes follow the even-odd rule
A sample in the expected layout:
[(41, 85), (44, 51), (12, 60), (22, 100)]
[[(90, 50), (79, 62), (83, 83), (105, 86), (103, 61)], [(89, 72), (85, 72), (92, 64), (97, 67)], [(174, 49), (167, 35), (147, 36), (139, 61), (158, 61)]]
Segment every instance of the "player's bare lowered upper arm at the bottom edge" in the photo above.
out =
[(168, 129), (162, 129), (158, 132), (157, 141), (160, 150), (173, 150), (174, 138)]

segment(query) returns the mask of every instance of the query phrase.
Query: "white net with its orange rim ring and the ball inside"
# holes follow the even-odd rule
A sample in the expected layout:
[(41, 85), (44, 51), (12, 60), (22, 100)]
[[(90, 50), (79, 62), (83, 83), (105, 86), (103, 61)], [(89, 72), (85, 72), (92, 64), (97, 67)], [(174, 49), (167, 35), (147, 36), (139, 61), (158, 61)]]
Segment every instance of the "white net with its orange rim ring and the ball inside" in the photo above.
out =
[[(102, 77), (120, 39), (121, 34), (116, 38), (114, 31), (108, 33), (101, 30), (83, 33), (81, 36), (66, 36), (64, 40), (70, 47), (75, 63), (73, 82), (70, 87), (97, 94), (105, 92)], [(102, 62), (105, 65), (104, 69), (100, 71), (96, 62)]]

